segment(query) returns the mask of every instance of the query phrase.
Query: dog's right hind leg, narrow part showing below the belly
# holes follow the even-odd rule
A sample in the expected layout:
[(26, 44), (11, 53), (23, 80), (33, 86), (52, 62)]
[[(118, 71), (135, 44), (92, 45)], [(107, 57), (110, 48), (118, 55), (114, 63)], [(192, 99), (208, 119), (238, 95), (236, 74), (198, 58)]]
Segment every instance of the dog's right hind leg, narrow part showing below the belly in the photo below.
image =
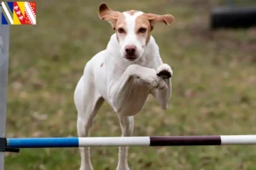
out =
[[(119, 116), (119, 123), (122, 130), (122, 136), (131, 136), (134, 127), (134, 119), (133, 116)], [(117, 166), (117, 170), (129, 170), (128, 166), (128, 146), (120, 146), (119, 147), (119, 163)]]

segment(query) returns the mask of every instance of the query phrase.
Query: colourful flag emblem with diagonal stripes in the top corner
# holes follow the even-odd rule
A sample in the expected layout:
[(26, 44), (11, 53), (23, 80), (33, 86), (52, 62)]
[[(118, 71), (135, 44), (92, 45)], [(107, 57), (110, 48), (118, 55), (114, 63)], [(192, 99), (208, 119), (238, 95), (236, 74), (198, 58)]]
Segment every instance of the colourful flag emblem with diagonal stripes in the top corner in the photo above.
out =
[(36, 2), (2, 2), (2, 25), (36, 25)]

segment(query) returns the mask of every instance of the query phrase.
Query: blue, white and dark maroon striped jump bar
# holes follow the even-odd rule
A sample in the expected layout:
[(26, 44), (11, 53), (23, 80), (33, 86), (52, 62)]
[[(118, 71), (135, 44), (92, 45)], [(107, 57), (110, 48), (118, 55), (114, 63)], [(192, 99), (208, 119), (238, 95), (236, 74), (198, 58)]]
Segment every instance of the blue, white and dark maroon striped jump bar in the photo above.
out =
[(66, 148), (86, 146), (185, 146), (225, 144), (256, 144), (256, 135), (7, 139), (7, 147), (10, 148)]

